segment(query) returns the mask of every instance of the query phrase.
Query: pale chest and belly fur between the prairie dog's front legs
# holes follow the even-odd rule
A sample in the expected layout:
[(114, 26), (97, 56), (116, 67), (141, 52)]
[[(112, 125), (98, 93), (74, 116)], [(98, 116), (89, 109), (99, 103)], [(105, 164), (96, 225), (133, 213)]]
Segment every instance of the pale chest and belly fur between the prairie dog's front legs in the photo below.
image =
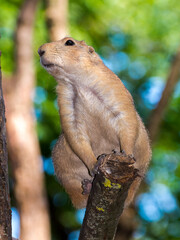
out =
[(120, 113), (113, 112), (105, 96), (95, 89), (79, 89), (74, 113), (77, 128), (85, 130), (94, 152), (99, 154), (117, 148)]

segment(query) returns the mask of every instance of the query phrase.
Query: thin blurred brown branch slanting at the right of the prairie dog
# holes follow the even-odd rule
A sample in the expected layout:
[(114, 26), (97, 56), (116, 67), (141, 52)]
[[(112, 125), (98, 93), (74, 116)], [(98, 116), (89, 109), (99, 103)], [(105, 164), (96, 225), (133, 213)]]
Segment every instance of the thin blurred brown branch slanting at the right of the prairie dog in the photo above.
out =
[(157, 107), (154, 109), (149, 118), (148, 130), (152, 143), (156, 140), (156, 137), (158, 135), (160, 124), (163, 120), (163, 116), (167, 108), (168, 102), (178, 82), (179, 75), (180, 75), (180, 50), (177, 52), (174, 61), (172, 62), (170, 73), (162, 97)]

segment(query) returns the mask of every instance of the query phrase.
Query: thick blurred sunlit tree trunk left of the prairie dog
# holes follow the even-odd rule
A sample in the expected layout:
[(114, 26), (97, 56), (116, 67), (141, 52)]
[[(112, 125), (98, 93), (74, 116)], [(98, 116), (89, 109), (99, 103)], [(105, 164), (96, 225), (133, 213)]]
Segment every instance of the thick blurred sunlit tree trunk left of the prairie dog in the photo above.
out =
[(35, 85), (32, 37), (38, 0), (26, 0), (15, 36), (15, 73), (4, 82), (8, 150), (20, 213), (20, 239), (50, 240), (48, 204), (32, 96)]

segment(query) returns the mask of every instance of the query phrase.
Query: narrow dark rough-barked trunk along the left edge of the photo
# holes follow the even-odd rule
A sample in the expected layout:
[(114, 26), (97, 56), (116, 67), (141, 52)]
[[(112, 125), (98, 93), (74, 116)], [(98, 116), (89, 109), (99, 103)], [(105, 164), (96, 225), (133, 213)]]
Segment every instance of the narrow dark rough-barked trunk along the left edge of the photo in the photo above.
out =
[(1, 240), (12, 239), (11, 207), (8, 182), (8, 154), (6, 146), (6, 118), (2, 92), (1, 64), (0, 64), (0, 239)]

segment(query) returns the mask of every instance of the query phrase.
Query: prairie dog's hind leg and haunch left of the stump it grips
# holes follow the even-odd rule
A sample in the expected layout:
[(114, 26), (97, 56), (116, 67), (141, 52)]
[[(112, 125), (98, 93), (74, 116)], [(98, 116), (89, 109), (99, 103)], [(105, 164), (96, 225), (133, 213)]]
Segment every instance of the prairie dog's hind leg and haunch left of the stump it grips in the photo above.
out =
[(85, 164), (71, 150), (63, 135), (57, 141), (53, 153), (56, 176), (69, 194), (75, 208), (86, 207), (88, 194), (83, 194), (83, 180), (91, 181)]

